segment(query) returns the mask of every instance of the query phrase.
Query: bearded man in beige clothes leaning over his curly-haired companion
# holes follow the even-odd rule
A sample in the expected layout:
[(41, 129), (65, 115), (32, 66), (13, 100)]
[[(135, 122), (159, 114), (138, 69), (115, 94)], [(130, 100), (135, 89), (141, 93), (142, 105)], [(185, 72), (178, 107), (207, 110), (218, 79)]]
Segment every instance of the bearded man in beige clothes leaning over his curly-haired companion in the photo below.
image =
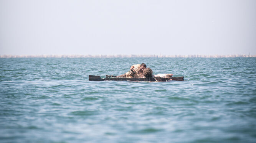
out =
[(126, 78), (142, 78), (143, 70), (147, 67), (146, 64), (134, 64), (130, 67), (130, 71), (126, 72), (117, 77), (126, 77)]

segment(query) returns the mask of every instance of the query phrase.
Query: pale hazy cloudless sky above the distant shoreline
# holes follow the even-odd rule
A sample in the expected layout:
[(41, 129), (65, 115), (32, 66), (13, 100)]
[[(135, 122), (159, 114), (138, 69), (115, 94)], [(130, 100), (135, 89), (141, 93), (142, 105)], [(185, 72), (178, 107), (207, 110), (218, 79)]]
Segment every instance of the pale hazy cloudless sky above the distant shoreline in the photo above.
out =
[(0, 55), (256, 55), (256, 0), (0, 0)]

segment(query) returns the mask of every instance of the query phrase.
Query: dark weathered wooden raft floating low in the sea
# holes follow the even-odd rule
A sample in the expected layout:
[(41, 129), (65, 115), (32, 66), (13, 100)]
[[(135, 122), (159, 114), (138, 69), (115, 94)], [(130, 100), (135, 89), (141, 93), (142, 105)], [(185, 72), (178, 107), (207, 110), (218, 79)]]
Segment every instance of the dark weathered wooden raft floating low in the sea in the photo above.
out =
[(90, 81), (142, 81), (142, 82), (168, 82), (172, 80), (176, 81), (184, 81), (184, 77), (170, 77), (170, 78), (162, 78), (162, 77), (149, 77), (149, 78), (124, 78), (124, 77), (116, 77), (106, 75), (106, 78), (101, 78), (101, 76), (93, 76), (89, 75)]

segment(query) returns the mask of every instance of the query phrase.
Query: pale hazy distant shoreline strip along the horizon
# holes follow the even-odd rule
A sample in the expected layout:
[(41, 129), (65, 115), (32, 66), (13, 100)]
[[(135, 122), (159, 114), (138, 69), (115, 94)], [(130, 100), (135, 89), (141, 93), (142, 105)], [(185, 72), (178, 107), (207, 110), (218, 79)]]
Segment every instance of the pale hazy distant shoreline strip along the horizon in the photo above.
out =
[(256, 55), (0, 55), (0, 58), (255, 58)]

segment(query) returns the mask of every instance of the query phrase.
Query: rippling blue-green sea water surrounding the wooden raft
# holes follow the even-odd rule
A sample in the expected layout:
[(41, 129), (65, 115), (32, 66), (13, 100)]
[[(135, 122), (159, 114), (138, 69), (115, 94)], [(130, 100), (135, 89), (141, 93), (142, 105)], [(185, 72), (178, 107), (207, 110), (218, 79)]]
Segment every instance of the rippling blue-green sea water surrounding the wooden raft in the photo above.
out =
[[(146, 63), (185, 81), (89, 81)], [(1, 58), (1, 143), (255, 143), (256, 58)]]

